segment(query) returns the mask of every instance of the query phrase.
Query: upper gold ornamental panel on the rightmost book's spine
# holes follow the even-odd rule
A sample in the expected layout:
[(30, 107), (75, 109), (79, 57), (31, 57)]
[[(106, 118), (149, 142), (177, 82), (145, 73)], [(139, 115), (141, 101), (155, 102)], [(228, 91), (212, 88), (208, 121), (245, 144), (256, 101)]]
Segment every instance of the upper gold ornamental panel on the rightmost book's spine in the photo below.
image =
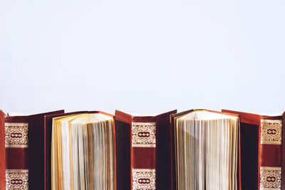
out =
[(282, 120), (261, 120), (261, 144), (281, 144)]

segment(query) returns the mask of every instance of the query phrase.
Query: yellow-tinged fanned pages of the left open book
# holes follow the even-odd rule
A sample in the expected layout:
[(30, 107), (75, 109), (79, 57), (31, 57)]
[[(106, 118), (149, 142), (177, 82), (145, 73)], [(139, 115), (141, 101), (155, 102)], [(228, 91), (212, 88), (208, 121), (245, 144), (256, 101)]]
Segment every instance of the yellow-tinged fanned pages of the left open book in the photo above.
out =
[(52, 190), (115, 190), (113, 117), (54, 117), (51, 140)]

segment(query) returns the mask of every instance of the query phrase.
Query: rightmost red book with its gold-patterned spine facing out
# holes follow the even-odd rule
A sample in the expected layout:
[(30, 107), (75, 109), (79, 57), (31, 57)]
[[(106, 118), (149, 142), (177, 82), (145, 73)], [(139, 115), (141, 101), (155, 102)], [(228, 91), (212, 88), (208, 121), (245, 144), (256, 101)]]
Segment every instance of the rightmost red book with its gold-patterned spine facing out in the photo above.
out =
[(222, 110), (240, 116), (242, 189), (285, 189), (285, 112), (252, 114)]

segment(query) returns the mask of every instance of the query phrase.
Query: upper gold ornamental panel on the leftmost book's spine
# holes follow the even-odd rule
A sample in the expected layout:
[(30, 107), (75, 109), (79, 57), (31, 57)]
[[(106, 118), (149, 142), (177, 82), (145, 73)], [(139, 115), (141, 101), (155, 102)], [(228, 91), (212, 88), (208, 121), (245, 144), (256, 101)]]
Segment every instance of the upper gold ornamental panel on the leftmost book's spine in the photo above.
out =
[(27, 148), (28, 147), (28, 123), (6, 122), (5, 123), (5, 147)]

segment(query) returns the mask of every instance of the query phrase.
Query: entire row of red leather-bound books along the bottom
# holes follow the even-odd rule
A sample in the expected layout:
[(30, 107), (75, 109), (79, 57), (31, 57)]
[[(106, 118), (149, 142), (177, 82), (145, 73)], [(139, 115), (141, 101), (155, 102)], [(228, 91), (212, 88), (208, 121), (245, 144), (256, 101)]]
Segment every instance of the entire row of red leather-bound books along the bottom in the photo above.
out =
[(285, 190), (285, 112), (0, 111), (0, 189)]

